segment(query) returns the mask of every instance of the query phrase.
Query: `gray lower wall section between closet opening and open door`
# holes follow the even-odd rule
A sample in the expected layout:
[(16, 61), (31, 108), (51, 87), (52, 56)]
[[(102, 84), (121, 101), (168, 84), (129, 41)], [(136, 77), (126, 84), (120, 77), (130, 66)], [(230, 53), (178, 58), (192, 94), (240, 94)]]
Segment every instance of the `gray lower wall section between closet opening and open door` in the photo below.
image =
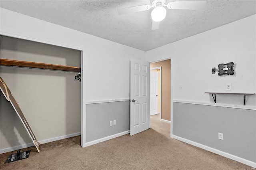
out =
[[(110, 127), (110, 121), (116, 125)], [(130, 130), (130, 101), (86, 105), (86, 142)]]

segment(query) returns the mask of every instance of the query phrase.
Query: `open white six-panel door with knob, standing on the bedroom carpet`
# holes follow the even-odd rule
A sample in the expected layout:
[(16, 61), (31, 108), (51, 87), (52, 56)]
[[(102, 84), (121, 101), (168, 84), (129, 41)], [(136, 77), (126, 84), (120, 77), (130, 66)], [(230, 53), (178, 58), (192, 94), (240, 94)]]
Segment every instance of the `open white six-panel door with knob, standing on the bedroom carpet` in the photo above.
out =
[(150, 126), (150, 64), (131, 59), (130, 135)]

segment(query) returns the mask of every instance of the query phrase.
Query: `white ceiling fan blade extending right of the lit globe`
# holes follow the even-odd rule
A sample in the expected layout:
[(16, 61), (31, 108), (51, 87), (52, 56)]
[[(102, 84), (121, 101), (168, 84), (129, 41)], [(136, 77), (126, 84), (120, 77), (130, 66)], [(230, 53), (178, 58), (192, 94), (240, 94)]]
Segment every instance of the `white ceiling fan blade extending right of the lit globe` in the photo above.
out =
[(174, 1), (167, 4), (168, 9), (200, 10), (206, 5), (206, 1)]

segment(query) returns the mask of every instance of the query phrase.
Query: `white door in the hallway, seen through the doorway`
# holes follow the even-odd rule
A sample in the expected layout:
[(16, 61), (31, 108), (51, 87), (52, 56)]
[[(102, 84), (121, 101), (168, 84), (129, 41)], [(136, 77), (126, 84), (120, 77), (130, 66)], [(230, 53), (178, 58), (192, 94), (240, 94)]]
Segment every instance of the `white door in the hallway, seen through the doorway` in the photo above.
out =
[(150, 71), (150, 116), (158, 112), (158, 72)]

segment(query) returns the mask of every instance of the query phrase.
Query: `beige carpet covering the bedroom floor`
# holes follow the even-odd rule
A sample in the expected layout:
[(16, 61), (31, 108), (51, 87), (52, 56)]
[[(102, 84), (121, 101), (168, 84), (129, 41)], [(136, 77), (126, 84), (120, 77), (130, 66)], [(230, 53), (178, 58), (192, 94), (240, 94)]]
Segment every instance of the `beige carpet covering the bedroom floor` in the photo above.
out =
[(1, 170), (255, 170), (250, 166), (170, 138), (170, 124), (151, 117), (151, 128), (80, 147), (80, 136), (35, 147), (27, 159), (4, 164), (14, 152), (0, 154)]

